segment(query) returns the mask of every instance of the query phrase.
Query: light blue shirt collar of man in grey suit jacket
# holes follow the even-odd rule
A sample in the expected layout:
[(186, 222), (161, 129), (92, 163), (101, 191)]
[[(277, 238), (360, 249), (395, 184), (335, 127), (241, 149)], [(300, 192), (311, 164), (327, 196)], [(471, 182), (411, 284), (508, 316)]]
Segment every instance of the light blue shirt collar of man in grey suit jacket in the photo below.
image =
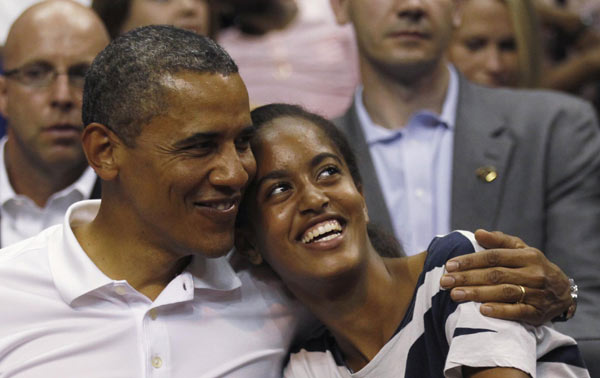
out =
[[(448, 89), (446, 90), (446, 97), (444, 99), (444, 105), (442, 106), (442, 114), (439, 116), (436, 115), (436, 117), (449, 129), (454, 129), (454, 126), (456, 124), (456, 113), (458, 108), (458, 73), (456, 72), (456, 68), (454, 68), (453, 65), (449, 64), (447, 67), (450, 73), (450, 80), (448, 81)], [(354, 93), (354, 103), (356, 106), (356, 113), (358, 115), (360, 124), (362, 125), (363, 131), (365, 133), (365, 138), (368, 143), (374, 140), (381, 139), (383, 137), (383, 135), (381, 135), (382, 133), (387, 135), (389, 133), (397, 132), (390, 131), (373, 122), (363, 102), (362, 85), (359, 85), (356, 88), (356, 91)], [(425, 112), (418, 111), (411, 116), (411, 119), (421, 113)]]

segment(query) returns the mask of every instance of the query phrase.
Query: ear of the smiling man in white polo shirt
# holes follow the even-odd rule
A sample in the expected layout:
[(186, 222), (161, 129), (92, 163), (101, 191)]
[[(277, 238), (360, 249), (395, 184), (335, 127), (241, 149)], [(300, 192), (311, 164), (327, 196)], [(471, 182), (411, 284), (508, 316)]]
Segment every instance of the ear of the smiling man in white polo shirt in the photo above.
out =
[(118, 152), (123, 148), (119, 137), (100, 123), (91, 123), (81, 136), (83, 151), (89, 165), (104, 181), (114, 180), (119, 174)]

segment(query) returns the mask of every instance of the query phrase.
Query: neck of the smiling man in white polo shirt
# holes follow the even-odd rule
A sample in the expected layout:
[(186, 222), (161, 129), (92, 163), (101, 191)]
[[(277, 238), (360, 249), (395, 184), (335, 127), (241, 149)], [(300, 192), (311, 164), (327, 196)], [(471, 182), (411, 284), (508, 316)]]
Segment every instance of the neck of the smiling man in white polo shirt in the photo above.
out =
[[(115, 211), (124, 206), (103, 200), (96, 218), (73, 228), (79, 244), (106, 276), (125, 280), (154, 301), (164, 288), (190, 263), (190, 256), (177, 256), (148, 242), (132, 230), (128, 214)], [(113, 216), (114, 215), (114, 216)]]

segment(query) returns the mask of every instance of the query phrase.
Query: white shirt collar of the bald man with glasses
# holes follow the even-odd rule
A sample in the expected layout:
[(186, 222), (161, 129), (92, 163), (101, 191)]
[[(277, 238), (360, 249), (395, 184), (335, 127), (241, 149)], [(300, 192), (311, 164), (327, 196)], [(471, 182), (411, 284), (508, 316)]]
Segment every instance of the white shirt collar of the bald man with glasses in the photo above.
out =
[[(4, 153), (6, 150), (7, 140), (7, 136), (4, 136), (2, 139), (0, 139), (0, 205), (3, 205), (7, 201), (15, 199), (19, 196), (17, 193), (15, 193), (15, 190), (10, 183), (8, 171), (6, 169)], [(65, 197), (73, 191), (77, 191), (82, 198), (90, 198), (92, 190), (94, 189), (94, 184), (96, 183), (96, 178), (97, 176), (94, 170), (91, 167), (87, 167), (77, 181), (61, 191), (52, 194), (48, 202), (55, 198)]]

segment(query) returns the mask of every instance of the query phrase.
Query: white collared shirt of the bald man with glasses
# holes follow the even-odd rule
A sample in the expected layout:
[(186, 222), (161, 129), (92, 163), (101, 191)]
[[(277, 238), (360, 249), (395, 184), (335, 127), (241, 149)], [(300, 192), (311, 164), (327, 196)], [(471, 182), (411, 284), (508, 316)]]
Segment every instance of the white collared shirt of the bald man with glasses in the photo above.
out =
[(15, 193), (8, 172), (4, 151), (6, 136), (0, 139), (0, 246), (6, 247), (39, 234), (45, 228), (61, 224), (69, 206), (77, 201), (89, 199), (96, 174), (90, 167), (71, 185), (48, 198), (44, 208), (31, 198)]

